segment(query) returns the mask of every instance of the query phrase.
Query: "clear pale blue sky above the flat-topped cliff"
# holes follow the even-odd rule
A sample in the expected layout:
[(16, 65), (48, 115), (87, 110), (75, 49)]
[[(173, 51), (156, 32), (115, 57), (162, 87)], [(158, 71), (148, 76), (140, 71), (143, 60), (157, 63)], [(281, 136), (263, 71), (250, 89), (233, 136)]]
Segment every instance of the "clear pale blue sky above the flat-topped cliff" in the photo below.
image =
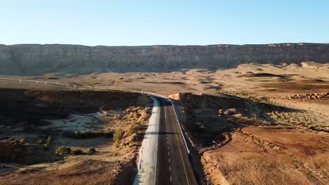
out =
[(0, 43), (329, 43), (329, 0), (0, 0)]

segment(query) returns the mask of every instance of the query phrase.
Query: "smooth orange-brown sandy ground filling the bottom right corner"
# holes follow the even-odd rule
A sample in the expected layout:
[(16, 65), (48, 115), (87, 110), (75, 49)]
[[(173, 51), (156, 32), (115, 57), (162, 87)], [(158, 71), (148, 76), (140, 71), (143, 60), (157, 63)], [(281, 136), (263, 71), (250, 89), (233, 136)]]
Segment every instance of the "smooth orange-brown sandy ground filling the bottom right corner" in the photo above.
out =
[(261, 127), (240, 129), (231, 139), (202, 156), (213, 184), (328, 183), (328, 134)]

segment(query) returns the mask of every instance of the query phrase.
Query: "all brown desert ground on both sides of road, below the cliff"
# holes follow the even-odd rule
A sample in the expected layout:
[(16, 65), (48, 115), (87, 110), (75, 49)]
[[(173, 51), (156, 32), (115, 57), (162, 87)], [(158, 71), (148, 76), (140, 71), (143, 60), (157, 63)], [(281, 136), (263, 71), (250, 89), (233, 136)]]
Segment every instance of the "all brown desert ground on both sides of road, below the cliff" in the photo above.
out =
[[(4, 184), (131, 182), (152, 102), (115, 90), (154, 92), (174, 101), (200, 184), (207, 177), (211, 184), (329, 183), (328, 63), (3, 75), (0, 87), (6, 105), (0, 147), (11, 151), (0, 153)], [(119, 129), (124, 134), (113, 142)], [(101, 136), (81, 138), (86, 130)], [(72, 151), (56, 154), (60, 146)], [(20, 150), (24, 156), (15, 153)]]

